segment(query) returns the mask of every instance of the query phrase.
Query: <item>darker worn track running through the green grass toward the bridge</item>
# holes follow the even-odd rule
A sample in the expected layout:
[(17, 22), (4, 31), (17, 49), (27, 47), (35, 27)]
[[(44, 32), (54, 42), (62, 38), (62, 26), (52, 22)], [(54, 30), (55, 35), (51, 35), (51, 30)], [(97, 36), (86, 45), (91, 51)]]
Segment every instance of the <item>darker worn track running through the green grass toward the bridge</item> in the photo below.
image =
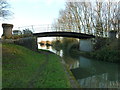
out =
[[(39, 52), (40, 53), (40, 52)], [(36, 70), (36, 72), (33, 74), (33, 78), (28, 83), (28, 88), (34, 88), (35, 84), (40, 76), (44, 73), (44, 69), (46, 68), (46, 65), (48, 64), (49, 60), (49, 53), (43, 53), (46, 55), (46, 60), (44, 63)]]

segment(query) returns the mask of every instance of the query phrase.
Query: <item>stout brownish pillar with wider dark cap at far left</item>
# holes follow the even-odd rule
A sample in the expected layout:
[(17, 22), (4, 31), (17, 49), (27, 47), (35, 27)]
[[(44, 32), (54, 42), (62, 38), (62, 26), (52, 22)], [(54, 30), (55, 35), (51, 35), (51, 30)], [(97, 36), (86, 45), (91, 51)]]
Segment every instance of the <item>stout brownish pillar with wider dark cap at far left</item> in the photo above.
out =
[(10, 38), (12, 38), (13, 24), (3, 23), (2, 24), (2, 28), (3, 28), (3, 37), (4, 37), (4, 39), (10, 39)]

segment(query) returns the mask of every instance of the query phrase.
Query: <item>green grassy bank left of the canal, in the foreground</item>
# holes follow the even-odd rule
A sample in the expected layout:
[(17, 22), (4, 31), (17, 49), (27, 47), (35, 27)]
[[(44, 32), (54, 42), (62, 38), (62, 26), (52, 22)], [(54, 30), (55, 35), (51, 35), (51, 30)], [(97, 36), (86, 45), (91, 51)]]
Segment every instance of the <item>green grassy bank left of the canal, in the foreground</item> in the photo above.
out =
[(70, 88), (60, 58), (55, 54), (31, 51), (3, 44), (3, 88)]

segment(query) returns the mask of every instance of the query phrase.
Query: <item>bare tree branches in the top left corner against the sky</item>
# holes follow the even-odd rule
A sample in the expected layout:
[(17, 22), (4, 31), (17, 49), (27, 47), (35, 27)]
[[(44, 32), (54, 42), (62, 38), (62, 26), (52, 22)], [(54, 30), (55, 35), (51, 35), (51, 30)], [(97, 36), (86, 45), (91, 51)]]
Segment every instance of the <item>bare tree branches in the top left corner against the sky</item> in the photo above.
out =
[(7, 18), (12, 13), (10, 12), (10, 5), (6, 0), (0, 0), (0, 19)]

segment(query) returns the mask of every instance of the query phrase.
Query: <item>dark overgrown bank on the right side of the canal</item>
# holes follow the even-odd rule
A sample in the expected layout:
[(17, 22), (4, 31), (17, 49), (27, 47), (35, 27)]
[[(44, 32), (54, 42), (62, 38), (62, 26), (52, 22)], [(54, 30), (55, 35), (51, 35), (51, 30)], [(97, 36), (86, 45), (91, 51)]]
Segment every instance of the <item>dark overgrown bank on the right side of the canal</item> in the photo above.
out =
[(82, 55), (95, 60), (120, 63), (119, 46), (120, 46), (120, 39), (101, 38), (98, 39), (98, 42), (95, 45), (97, 49), (95, 49), (92, 52), (80, 51), (79, 48), (71, 48), (70, 52), (76, 56)]

